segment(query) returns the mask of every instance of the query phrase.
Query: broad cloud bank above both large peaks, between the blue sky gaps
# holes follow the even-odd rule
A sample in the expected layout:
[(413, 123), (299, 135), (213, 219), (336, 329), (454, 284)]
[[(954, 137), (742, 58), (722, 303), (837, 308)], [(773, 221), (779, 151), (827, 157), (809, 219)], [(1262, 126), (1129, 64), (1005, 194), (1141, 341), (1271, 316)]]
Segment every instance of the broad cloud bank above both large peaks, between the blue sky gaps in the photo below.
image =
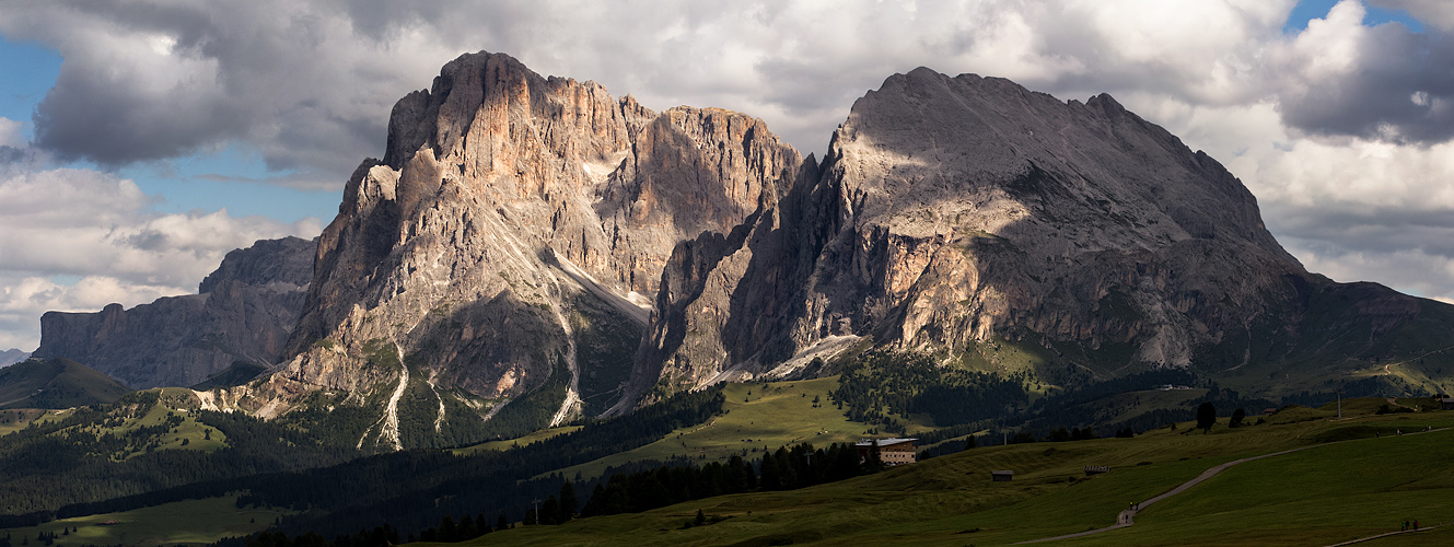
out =
[[(0, 32), (64, 63), (36, 143), (106, 166), (247, 143), (336, 188), (378, 154), (395, 99), (461, 52), (602, 81), (653, 108), (763, 116), (807, 151), (852, 100), (917, 65), (1085, 95), (1157, 89), (1227, 102), (1290, 0), (976, 3), (17, 0)], [(297, 183), (282, 179), (282, 183)]]

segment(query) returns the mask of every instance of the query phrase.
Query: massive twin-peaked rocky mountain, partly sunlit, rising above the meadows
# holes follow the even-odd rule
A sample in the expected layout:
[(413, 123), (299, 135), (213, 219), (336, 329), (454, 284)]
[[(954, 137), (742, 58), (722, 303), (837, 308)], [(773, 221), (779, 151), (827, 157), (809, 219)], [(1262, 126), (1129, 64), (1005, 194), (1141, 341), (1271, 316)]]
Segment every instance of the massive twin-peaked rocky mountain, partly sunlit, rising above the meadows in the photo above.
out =
[(868, 349), (1027, 388), (1178, 368), (1269, 396), (1434, 388), (1454, 349), (1454, 307), (1307, 272), (1232, 173), (1108, 95), (919, 68), (819, 161), (742, 113), (657, 113), (487, 52), (395, 103), (301, 310), (278, 364), (206, 404), (364, 450)]

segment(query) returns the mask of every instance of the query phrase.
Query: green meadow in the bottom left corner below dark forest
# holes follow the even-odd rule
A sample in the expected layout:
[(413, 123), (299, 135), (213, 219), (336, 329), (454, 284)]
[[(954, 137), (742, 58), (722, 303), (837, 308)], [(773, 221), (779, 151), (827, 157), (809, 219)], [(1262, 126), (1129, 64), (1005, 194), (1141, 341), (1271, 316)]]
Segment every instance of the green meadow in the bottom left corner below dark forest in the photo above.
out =
[[(208, 544), (224, 537), (262, 531), (291, 512), (237, 509), (237, 496), (195, 499), (137, 511), (67, 518), (31, 528), (10, 528), (10, 544), (44, 546), (42, 532), (55, 532), (55, 546), (180, 546)], [(112, 522), (112, 524), (106, 524)], [(74, 532), (61, 535), (61, 530)]]

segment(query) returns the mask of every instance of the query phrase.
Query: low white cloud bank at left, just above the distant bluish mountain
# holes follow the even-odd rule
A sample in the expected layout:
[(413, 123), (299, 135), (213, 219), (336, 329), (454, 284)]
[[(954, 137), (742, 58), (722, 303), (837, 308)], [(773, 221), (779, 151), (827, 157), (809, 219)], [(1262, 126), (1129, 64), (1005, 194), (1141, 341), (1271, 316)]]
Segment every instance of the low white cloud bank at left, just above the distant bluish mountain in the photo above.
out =
[(317, 220), (150, 212), (135, 183), (81, 169), (0, 169), (0, 346), (35, 348), (48, 310), (95, 311), (196, 292), (233, 249)]

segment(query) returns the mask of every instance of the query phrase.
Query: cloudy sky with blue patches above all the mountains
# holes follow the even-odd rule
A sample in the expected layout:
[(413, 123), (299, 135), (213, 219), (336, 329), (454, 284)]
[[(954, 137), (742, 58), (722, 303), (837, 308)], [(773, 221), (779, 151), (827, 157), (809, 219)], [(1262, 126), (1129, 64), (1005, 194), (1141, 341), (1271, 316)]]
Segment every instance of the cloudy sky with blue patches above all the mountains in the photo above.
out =
[(1108, 92), (1227, 164), (1309, 269), (1454, 297), (1444, 0), (7, 0), (0, 38), (0, 349), (316, 236), (394, 100), (481, 49), (819, 154), (919, 65)]

